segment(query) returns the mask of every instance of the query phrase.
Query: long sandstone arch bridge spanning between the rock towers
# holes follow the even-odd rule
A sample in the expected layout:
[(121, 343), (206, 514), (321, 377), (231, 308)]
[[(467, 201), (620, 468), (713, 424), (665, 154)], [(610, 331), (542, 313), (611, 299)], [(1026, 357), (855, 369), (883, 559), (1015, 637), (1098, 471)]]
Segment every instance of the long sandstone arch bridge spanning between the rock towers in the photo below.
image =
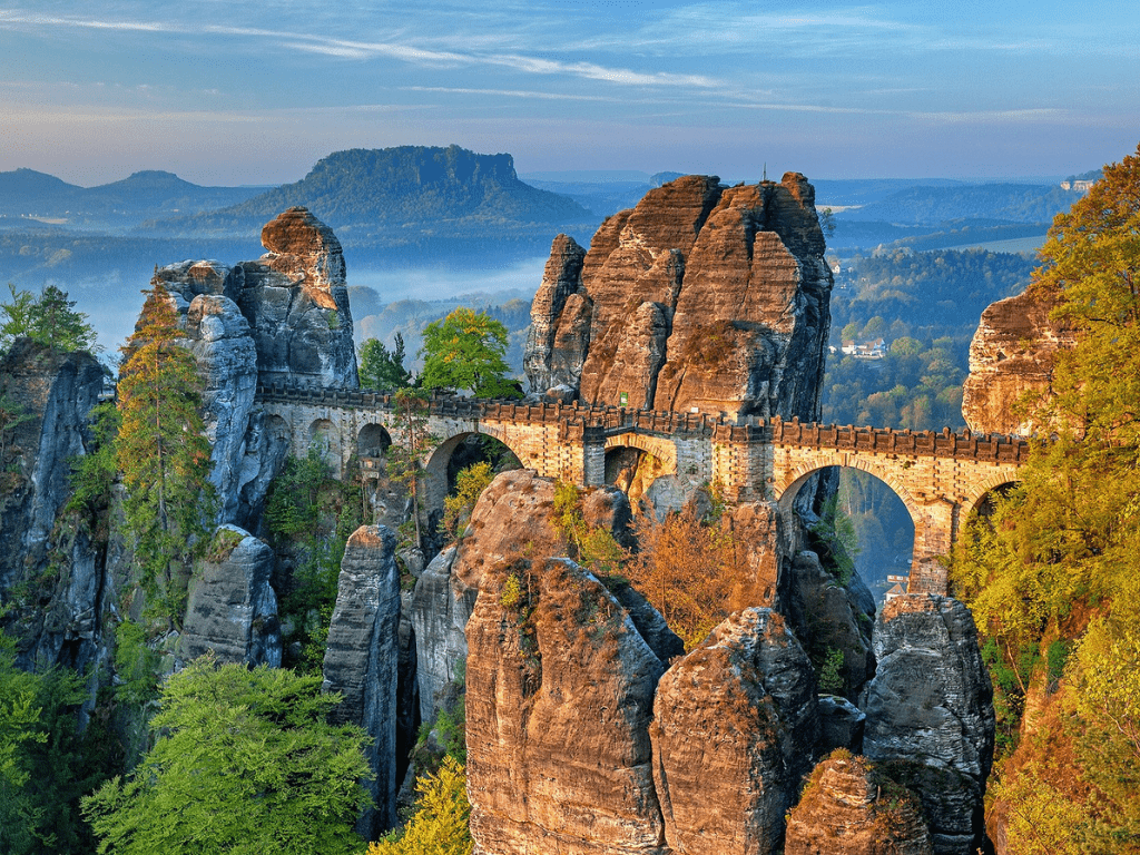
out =
[[(266, 430), (304, 455), (327, 445), (334, 465), (375, 458), (402, 429), (391, 396), (357, 390), (260, 386)], [(828, 466), (850, 466), (890, 487), (914, 522), (910, 591), (945, 593), (960, 526), (991, 490), (1017, 481), (1029, 443), (890, 429), (801, 424), (781, 418), (725, 418), (579, 404), (520, 404), (438, 397), (430, 402), (424, 455), (429, 507), (442, 506), (447, 462), (473, 433), (506, 445), (529, 469), (581, 487), (605, 483), (605, 456), (637, 448), (656, 458), (659, 478), (682, 486), (719, 482), (731, 502), (776, 502), (784, 513), (800, 487)]]

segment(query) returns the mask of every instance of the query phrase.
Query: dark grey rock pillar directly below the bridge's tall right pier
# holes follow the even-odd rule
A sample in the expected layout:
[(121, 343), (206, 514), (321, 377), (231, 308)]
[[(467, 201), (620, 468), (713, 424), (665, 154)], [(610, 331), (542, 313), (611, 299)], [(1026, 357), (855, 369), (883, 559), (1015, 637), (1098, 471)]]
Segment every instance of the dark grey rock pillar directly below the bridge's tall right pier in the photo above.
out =
[(994, 747), (993, 690), (969, 609), (907, 594), (874, 629), (863, 750), (922, 800), (934, 850), (970, 855), (984, 834), (982, 797)]

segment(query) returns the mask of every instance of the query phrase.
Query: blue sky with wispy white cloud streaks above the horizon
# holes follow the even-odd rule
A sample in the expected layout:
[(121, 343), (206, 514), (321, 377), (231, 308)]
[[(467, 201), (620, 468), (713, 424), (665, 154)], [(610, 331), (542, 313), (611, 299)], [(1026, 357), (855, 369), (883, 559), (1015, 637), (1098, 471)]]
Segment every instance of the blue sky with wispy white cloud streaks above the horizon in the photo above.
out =
[(329, 152), (755, 180), (1067, 174), (1140, 140), (1140, 3), (0, 0), (0, 170), (301, 178)]

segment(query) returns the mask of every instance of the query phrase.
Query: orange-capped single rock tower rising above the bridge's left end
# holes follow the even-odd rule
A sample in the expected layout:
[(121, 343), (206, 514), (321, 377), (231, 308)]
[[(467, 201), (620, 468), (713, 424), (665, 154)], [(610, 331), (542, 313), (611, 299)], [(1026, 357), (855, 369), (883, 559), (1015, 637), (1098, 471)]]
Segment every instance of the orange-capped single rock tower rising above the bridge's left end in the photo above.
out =
[(308, 210), (291, 207), (266, 223), (261, 243), (268, 252), (234, 270), (261, 382), (357, 388), (340, 241)]

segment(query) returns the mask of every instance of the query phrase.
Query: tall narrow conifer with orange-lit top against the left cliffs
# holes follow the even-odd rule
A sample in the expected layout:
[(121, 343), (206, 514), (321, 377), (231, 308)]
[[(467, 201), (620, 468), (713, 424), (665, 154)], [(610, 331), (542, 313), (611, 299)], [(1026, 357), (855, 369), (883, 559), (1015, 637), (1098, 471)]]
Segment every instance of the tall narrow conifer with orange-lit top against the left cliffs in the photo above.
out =
[(181, 611), (188, 562), (209, 540), (217, 503), (210, 442), (198, 407), (204, 381), (179, 343), (174, 302), (155, 277), (133, 335), (122, 348), (116, 461), (124, 514), (150, 605)]

